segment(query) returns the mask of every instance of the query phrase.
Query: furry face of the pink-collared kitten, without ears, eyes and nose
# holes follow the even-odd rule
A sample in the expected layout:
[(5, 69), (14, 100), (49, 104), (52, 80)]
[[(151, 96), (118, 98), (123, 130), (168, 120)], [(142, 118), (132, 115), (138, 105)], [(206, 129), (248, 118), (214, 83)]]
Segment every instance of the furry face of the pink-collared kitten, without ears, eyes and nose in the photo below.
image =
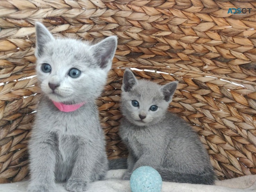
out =
[[(76, 40), (58, 39), (46, 44), (44, 54), (38, 57), (36, 71), (41, 82), (41, 90), (49, 99), (57, 102), (83, 102), (97, 97), (101, 86), (105, 84), (107, 73), (94, 67), (94, 58), (89, 45)], [(51, 71), (43, 71), (43, 65), (49, 64)], [(71, 69), (78, 69), (81, 74), (73, 78)], [(59, 85), (52, 90), (49, 84)]]

